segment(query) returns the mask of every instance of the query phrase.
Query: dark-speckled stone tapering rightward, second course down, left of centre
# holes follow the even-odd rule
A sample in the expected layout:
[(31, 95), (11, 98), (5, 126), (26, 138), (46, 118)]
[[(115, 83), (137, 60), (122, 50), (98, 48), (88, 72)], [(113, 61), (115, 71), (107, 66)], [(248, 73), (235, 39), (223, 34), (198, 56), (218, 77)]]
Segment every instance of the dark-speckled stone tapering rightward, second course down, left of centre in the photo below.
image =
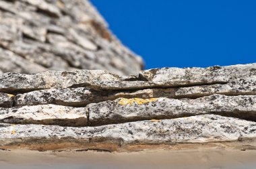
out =
[(151, 95), (147, 90), (142, 91), (94, 91), (84, 87), (78, 88), (59, 88), (46, 89), (40, 91), (32, 91), (29, 93), (16, 95), (14, 105), (44, 105), (55, 104), (73, 107), (83, 107), (90, 103), (99, 103), (101, 101), (111, 101), (119, 97), (133, 98), (149, 98)]

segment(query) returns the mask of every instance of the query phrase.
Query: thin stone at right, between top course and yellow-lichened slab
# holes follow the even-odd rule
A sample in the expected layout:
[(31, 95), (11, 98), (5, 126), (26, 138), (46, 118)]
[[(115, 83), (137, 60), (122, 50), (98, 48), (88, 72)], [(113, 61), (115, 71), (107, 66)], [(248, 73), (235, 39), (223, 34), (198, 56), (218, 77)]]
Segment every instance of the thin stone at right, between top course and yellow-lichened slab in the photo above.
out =
[(256, 78), (238, 78), (227, 84), (199, 85), (194, 87), (180, 87), (169, 89), (146, 89), (140, 91), (148, 93), (150, 97), (168, 97), (175, 99), (198, 98), (213, 94), (221, 95), (256, 95)]

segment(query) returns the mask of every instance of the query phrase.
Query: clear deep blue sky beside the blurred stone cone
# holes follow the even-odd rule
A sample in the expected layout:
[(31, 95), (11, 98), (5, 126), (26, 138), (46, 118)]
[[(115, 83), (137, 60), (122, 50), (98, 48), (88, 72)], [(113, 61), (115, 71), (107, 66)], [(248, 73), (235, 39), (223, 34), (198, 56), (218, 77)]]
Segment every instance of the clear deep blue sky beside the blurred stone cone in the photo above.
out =
[(146, 68), (256, 62), (255, 0), (92, 0)]

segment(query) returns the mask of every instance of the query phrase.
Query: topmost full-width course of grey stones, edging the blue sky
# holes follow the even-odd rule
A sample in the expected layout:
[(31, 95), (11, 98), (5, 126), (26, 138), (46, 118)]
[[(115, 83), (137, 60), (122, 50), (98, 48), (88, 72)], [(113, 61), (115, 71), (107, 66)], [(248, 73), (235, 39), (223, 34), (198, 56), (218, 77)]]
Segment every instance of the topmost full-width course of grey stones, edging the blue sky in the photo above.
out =
[[(232, 72), (232, 73), (230, 73)], [(256, 64), (213, 68), (162, 68), (136, 76), (118, 76), (106, 70), (48, 71), (38, 74), (0, 74), (0, 92), (34, 91), (51, 87), (88, 87), (96, 90), (187, 87), (226, 84), (238, 78), (256, 78)]]

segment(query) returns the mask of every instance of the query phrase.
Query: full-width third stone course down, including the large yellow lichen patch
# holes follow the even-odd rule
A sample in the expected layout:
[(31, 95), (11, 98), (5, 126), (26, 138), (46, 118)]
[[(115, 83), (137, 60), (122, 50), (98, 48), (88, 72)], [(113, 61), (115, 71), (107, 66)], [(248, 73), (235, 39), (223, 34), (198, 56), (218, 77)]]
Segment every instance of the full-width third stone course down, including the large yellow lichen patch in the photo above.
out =
[[(53, 93), (55, 93), (54, 91), (55, 89), (53, 89)], [(82, 91), (79, 92), (82, 93)], [(76, 93), (73, 93), (73, 95), (75, 96)], [(44, 99), (47, 99), (47, 95), (44, 95)], [(51, 99), (51, 97), (48, 97), (48, 99)], [(72, 100), (73, 98), (70, 97), (69, 99)], [(90, 103), (81, 108), (46, 104), (9, 109), (1, 108), (0, 113), (0, 121), (2, 120), (5, 123), (44, 123), (44, 119), (67, 119), (66, 121), (74, 119), (73, 121), (78, 121), (77, 118), (86, 118), (86, 115), (88, 115), (89, 118), (86, 121), (88, 120), (89, 124), (78, 124), (81, 126), (107, 125), (147, 119), (174, 119), (201, 114), (218, 114), (256, 121), (256, 95), (210, 95), (198, 99), (119, 98), (114, 101)], [(44, 117), (44, 113), (47, 113), (46, 115), (50, 113), (51, 118)], [(57, 114), (55, 115), (55, 113)], [(17, 120), (13, 120), (13, 118)], [(45, 124), (54, 123), (57, 122)], [(58, 125), (61, 125), (61, 123), (58, 123)], [(72, 125), (71, 122), (69, 125)], [(76, 126), (77, 124), (74, 123), (73, 125)]]

